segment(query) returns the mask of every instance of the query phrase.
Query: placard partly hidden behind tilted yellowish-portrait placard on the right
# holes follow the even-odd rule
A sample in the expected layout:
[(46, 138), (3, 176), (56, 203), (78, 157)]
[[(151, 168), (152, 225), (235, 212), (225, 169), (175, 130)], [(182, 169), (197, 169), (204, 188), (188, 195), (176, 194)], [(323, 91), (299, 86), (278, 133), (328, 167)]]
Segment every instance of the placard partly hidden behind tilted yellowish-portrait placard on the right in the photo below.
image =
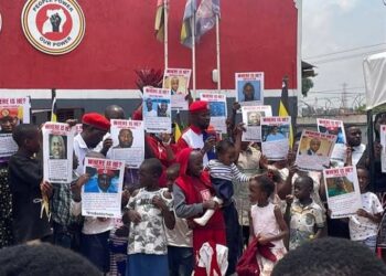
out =
[(343, 167), (346, 160), (346, 134), (342, 120), (317, 119), (318, 130), (322, 134), (336, 135), (335, 147), (331, 155), (334, 167)]

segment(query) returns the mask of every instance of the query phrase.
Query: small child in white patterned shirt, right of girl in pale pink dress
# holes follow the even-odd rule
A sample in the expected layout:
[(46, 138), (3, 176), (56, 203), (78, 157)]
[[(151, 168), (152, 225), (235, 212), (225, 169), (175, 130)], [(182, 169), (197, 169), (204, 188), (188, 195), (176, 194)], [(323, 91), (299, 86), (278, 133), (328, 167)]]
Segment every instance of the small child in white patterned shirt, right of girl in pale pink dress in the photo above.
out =
[(322, 235), (323, 211), (311, 199), (312, 190), (312, 178), (299, 177), (293, 184), (296, 200), (292, 195), (287, 195), (286, 219), (290, 225), (290, 251)]

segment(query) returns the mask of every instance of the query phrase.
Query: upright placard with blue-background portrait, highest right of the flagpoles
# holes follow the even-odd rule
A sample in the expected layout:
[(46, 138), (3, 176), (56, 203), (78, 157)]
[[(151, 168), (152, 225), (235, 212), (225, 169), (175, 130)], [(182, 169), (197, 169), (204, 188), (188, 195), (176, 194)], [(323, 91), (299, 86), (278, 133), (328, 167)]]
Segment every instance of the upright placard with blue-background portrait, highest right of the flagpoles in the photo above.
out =
[(242, 106), (264, 103), (264, 73), (236, 73), (236, 100)]

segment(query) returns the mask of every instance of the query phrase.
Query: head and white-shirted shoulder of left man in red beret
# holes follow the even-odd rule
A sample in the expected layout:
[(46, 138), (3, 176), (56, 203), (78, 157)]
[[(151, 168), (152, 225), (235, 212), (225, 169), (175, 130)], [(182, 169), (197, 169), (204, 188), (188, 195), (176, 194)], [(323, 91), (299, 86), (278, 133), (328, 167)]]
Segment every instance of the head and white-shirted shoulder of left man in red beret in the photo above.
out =
[(110, 121), (100, 114), (87, 113), (82, 118), (83, 131), (74, 138), (74, 151), (79, 160), (76, 169), (78, 174), (84, 173), (83, 162), (89, 151), (98, 151), (95, 148), (110, 129)]

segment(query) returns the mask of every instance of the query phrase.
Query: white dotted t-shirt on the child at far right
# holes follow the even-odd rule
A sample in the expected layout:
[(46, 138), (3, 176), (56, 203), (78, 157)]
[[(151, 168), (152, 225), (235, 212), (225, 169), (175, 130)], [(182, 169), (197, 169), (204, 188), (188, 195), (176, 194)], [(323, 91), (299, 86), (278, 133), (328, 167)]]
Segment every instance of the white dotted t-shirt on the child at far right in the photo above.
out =
[[(384, 211), (378, 198), (372, 193), (366, 192), (361, 194), (362, 209), (371, 214), (378, 214)], [(374, 223), (367, 217), (353, 215), (349, 222), (350, 237), (352, 241), (363, 241), (371, 236), (376, 236), (378, 233), (378, 223)]]

